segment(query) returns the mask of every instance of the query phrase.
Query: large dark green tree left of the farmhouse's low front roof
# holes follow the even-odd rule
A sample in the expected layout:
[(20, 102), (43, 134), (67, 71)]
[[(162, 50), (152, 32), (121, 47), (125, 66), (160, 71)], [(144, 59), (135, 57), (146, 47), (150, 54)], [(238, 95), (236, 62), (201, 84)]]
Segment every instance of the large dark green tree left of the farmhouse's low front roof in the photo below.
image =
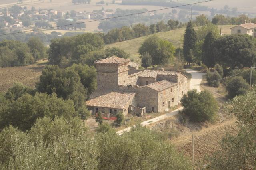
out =
[[(77, 70), (80, 71), (79, 69)], [(82, 115), (88, 115), (88, 111), (84, 106), (87, 90), (80, 80), (81, 78), (74, 70), (74, 67), (73, 69), (60, 69), (57, 65), (47, 65), (39, 77), (36, 88), (40, 93), (49, 95), (56, 93), (58, 97), (64, 100), (73, 100), (76, 111), (83, 109), (84, 113)], [(79, 112), (81, 114), (81, 110)]]

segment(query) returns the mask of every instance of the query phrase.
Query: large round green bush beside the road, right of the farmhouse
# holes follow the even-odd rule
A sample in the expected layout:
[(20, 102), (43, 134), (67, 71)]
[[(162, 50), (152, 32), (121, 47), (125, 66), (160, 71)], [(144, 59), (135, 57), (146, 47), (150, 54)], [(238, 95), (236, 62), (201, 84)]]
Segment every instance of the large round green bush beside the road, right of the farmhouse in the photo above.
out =
[(217, 101), (208, 91), (188, 91), (181, 99), (182, 112), (194, 122), (211, 121), (218, 111)]

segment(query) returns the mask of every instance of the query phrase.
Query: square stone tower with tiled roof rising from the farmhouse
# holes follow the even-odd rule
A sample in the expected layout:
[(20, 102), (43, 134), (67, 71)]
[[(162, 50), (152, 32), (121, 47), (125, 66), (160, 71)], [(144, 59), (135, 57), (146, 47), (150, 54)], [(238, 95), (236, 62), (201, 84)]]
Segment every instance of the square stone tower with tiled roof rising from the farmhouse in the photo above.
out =
[(128, 81), (129, 59), (110, 57), (95, 61), (97, 69), (97, 87), (99, 90), (118, 89)]

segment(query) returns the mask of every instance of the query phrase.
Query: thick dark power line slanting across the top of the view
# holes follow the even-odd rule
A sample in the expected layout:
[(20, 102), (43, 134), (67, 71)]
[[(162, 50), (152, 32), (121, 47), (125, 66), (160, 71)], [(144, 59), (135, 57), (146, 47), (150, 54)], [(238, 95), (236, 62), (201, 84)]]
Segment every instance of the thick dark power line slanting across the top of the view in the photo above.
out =
[(40, 31), (40, 30), (46, 30), (46, 29), (50, 29), (50, 28), (58, 28), (58, 27), (64, 27), (64, 26), (72, 26), (72, 25), (84, 24), (84, 23), (88, 23), (88, 22), (96, 22), (96, 21), (102, 21), (102, 20), (109, 20), (109, 19), (120, 18), (120, 17), (125, 17), (125, 16), (132, 16), (132, 15), (137, 15), (137, 14), (145, 14), (145, 13), (148, 13), (148, 12), (167, 10), (167, 9), (170, 9), (170, 8), (179, 8), (179, 7), (182, 7), (182, 6), (201, 4), (201, 3), (204, 3), (204, 2), (211, 2), (211, 1), (215, 1), (215, 0), (206, 0), (206, 1), (202, 1), (202, 2), (195, 2), (195, 3), (191, 3), (191, 4), (184, 4), (184, 5), (180, 5), (180, 6), (161, 8), (161, 9), (158, 9), (158, 10), (150, 10), (150, 11), (146, 11), (146, 12), (138, 12), (138, 13), (134, 13), (134, 14), (127, 14), (127, 15), (122, 15), (122, 16), (114, 16), (114, 17), (110, 17), (110, 18), (103, 18), (103, 19), (86, 21), (86, 22), (78, 22), (78, 23), (73, 23), (73, 24), (66, 24), (66, 25), (62, 25), (62, 26), (53, 26), (53, 27), (47, 27), (47, 28), (38, 28), (38, 29), (35, 29), (35, 30), (26, 30), (26, 31), (20, 31), (20, 32), (12, 32), (12, 33), (8, 33), (8, 34), (0, 34), (0, 36), (6, 36), (6, 35), (12, 35), (12, 34), (18, 34), (18, 33), (24, 33), (24, 32), (31, 32), (31, 31)]

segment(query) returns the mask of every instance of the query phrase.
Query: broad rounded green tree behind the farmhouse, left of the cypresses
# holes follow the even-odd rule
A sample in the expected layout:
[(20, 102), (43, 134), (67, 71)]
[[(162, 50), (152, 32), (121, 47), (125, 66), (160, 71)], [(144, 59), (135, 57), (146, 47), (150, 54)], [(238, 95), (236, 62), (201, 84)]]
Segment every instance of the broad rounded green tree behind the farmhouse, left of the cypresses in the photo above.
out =
[(152, 64), (165, 64), (170, 61), (174, 54), (174, 47), (172, 43), (167, 40), (162, 40), (156, 35), (147, 38), (138, 51), (140, 55), (148, 52), (152, 55)]

